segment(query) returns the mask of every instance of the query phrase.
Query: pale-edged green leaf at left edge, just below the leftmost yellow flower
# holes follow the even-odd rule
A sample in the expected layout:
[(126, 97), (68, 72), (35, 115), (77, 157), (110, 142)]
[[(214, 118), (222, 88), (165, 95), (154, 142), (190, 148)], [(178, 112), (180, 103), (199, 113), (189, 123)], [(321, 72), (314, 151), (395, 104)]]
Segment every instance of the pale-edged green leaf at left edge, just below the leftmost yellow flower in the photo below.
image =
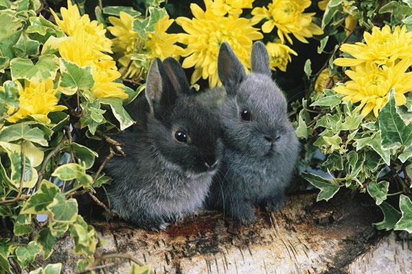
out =
[(45, 134), (37, 127), (30, 127), (27, 123), (18, 123), (3, 127), (0, 131), (0, 142), (13, 142), (16, 140), (28, 140), (47, 147)]

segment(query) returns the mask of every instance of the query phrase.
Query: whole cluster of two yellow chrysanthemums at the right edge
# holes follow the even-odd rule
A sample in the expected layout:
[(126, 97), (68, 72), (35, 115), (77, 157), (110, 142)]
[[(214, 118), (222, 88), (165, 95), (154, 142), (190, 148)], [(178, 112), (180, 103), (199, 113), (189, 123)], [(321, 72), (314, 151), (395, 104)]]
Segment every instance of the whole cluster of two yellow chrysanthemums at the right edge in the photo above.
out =
[(412, 32), (407, 32), (405, 26), (397, 26), (392, 32), (385, 25), (382, 29), (374, 27), (371, 34), (365, 32), (363, 38), (365, 42), (341, 46), (341, 51), (353, 58), (337, 58), (334, 64), (351, 66), (345, 71), (351, 80), (334, 90), (345, 95), (343, 100), (361, 102), (363, 115), (373, 110), (378, 117), (391, 88), (395, 90), (396, 105), (404, 105), (404, 94), (412, 91), (412, 73), (407, 72), (412, 66)]

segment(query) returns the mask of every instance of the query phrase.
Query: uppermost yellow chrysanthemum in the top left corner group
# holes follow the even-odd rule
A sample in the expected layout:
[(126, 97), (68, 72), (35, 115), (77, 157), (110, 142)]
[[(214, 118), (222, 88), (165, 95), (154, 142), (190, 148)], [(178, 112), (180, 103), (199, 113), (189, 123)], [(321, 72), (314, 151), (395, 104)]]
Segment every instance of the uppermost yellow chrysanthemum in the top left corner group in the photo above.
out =
[(67, 36), (73, 36), (79, 28), (82, 28), (93, 37), (93, 43), (89, 47), (93, 47), (95, 53), (100, 53), (100, 51), (112, 53), (111, 40), (106, 37), (104, 25), (95, 20), (90, 21), (87, 14), (80, 16), (78, 6), (72, 5), (70, 0), (67, 1), (67, 8), (60, 8), (62, 20), (53, 10), (50, 10), (50, 12), (52, 12), (57, 25)]

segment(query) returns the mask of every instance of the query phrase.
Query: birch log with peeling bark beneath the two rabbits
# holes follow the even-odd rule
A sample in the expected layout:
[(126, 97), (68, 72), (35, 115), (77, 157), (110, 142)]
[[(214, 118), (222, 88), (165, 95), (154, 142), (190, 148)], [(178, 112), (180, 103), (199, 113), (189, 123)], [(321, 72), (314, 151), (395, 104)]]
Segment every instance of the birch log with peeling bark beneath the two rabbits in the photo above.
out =
[[(290, 197), (279, 212), (256, 210), (257, 223), (239, 229), (218, 212), (190, 217), (164, 232), (146, 232), (122, 221), (91, 223), (106, 241), (100, 253), (129, 253), (151, 264), (155, 273), (347, 273), (382, 238), (371, 225), (380, 221), (380, 213), (349, 193), (329, 203), (316, 203), (315, 197)], [(72, 245), (63, 238), (49, 260), (62, 262), (64, 273), (76, 270)], [(130, 264), (119, 260), (106, 273), (128, 269)]]

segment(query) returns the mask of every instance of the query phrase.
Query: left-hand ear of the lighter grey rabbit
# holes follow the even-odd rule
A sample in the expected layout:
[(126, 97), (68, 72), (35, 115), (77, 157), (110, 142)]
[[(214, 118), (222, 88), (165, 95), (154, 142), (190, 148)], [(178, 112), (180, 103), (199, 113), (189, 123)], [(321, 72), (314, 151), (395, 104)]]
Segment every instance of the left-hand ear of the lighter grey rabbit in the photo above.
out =
[(227, 90), (227, 94), (235, 95), (236, 87), (242, 82), (246, 76), (246, 72), (244, 71), (242, 63), (240, 63), (227, 42), (223, 42), (222, 45), (220, 45), (218, 73), (220, 81)]

